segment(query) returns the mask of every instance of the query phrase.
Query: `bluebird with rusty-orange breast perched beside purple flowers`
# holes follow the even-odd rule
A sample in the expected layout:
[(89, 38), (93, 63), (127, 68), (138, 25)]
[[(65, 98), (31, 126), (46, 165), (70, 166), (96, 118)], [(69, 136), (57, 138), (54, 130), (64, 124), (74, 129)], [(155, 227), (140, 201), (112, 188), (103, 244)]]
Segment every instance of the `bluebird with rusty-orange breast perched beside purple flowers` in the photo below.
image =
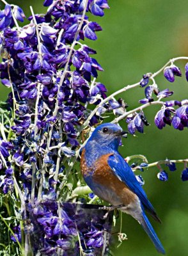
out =
[(118, 152), (121, 137), (126, 136), (116, 124), (98, 125), (81, 154), (81, 172), (95, 195), (114, 208), (130, 214), (144, 228), (159, 253), (164, 248), (145, 211), (161, 222), (129, 164)]

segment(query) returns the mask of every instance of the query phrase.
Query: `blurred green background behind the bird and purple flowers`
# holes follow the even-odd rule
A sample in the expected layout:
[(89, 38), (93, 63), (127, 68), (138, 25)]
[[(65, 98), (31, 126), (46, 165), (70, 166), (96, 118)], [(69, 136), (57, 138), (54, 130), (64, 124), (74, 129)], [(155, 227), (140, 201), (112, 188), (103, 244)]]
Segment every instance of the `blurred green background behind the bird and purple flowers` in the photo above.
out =
[[(19, 4), (27, 16), (29, 5), (35, 13), (43, 13), (46, 8), (42, 0), (9, 1)], [(127, 84), (137, 83), (146, 72), (159, 70), (169, 59), (188, 55), (188, 1), (186, 0), (109, 0), (110, 9), (101, 18), (91, 17), (103, 28), (97, 34), (96, 42), (86, 44), (97, 50), (97, 60), (104, 68), (98, 81), (106, 84), (108, 93), (112, 93)], [(175, 92), (173, 99), (186, 99), (188, 84), (185, 80), (186, 61), (176, 65), (182, 69), (183, 76), (176, 77), (175, 83), (169, 83), (162, 74), (156, 81), (159, 88), (169, 88)], [(1, 100), (6, 99), (7, 90), (1, 86)], [(136, 88), (120, 95), (129, 104), (130, 109), (138, 105), (137, 100), (144, 98), (144, 90)], [(166, 159), (188, 157), (188, 131), (176, 131), (165, 127), (162, 131), (153, 124), (159, 106), (146, 109), (145, 115), (150, 127), (145, 134), (130, 136), (123, 141), (123, 156), (143, 154), (150, 163)], [(125, 129), (125, 122), (121, 122)], [(176, 172), (169, 172), (169, 181), (157, 179), (157, 168), (150, 168), (142, 174), (144, 189), (159, 214), (162, 225), (151, 220), (155, 231), (166, 249), (166, 255), (187, 256), (188, 237), (188, 182), (182, 182), (180, 174), (183, 164), (177, 165)], [(167, 168), (166, 168), (167, 170)], [(119, 221), (118, 221), (119, 222)], [(119, 229), (116, 227), (116, 231)], [(127, 214), (123, 214), (123, 232), (128, 240), (120, 248), (114, 246), (116, 256), (155, 256), (159, 255), (140, 225)], [(116, 235), (113, 236), (116, 240)]]

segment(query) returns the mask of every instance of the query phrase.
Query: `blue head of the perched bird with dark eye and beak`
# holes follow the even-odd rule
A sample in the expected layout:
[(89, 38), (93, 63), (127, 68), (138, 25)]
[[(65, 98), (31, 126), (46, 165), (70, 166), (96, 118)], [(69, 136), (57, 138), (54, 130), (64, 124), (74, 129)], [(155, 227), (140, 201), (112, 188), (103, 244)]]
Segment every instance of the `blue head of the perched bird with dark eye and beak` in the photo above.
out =
[(102, 147), (111, 147), (117, 150), (121, 137), (127, 137), (127, 133), (119, 125), (111, 123), (101, 124), (93, 131), (89, 141), (95, 141)]

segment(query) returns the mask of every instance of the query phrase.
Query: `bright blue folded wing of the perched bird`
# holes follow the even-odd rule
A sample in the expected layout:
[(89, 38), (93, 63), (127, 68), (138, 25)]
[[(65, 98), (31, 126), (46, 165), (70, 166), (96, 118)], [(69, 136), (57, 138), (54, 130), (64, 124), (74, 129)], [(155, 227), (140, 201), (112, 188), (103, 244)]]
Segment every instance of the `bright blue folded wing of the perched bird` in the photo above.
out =
[(110, 168), (113, 170), (114, 174), (118, 179), (124, 182), (132, 192), (134, 192), (138, 197), (145, 209), (152, 214), (155, 220), (161, 222), (157, 217), (155, 209), (148, 200), (145, 191), (137, 181), (134, 172), (130, 168), (129, 164), (120, 156), (120, 154), (113, 154), (109, 156), (107, 163)]

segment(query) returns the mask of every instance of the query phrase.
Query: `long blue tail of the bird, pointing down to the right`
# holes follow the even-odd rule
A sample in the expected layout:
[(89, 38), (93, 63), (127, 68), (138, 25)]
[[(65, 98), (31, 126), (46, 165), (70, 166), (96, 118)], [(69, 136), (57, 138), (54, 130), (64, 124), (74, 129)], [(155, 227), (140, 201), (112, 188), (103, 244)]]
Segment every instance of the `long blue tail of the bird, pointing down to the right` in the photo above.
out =
[(141, 226), (144, 228), (145, 232), (148, 234), (148, 236), (152, 240), (157, 251), (162, 254), (165, 254), (164, 248), (163, 248), (161, 242), (159, 241), (157, 234), (155, 234), (155, 231), (153, 230), (153, 227), (150, 224), (150, 221), (148, 220), (145, 212), (143, 212), (143, 220), (141, 221)]

